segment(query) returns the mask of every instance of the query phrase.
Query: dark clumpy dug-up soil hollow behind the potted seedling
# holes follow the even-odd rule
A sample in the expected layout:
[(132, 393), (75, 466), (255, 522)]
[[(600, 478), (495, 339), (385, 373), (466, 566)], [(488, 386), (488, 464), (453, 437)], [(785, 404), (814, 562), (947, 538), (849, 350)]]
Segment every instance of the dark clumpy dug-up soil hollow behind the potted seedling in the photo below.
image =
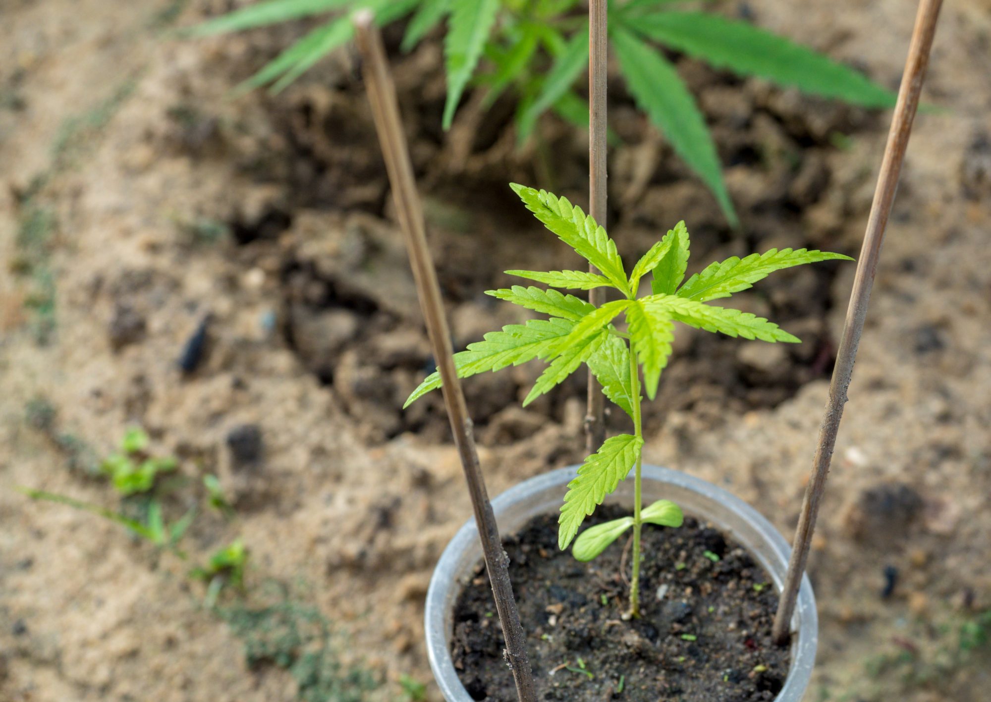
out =
[[(392, 34), (386, 40), (395, 44), (398, 34)], [(507, 183), (540, 185), (584, 203), (587, 137), (548, 118), (536, 144), (516, 150), (512, 110), (503, 100), (489, 112), (482, 112), (478, 101), (467, 100), (453, 130), (442, 134), (437, 125), (444, 78), (437, 46), (425, 44), (408, 56), (391, 49), (431, 247), (454, 319), (455, 348), (462, 349), (485, 331), (524, 318), (523, 313), (504, 312), (503, 303), (484, 294), (522, 283), (502, 271), (581, 266), (528, 215)], [(826, 157), (842, 147), (846, 135), (871, 128), (874, 118), (838, 103), (742, 81), (687, 58), (678, 58), (678, 64), (709, 118), (742, 227), (733, 231), (726, 225), (706, 187), (615, 81), (609, 114), (622, 144), (610, 152), (608, 228), (627, 263), (681, 218), (692, 233), (689, 274), (714, 260), (772, 247), (855, 253), (834, 239), (839, 223), (856, 205), (833, 181)], [(366, 439), (383, 441), (415, 431), (431, 440), (450, 440), (439, 401), (420, 401), (421, 410), (400, 410), (409, 391), (433, 369), (418, 315), (390, 307), (388, 297), (395, 291), (387, 286), (355, 290), (349, 280), (357, 270), (378, 271), (382, 280), (408, 277), (398, 232), (394, 227), (385, 232), (395, 240), (395, 251), (383, 246), (383, 236), (359, 232), (344, 250), (345, 257), (360, 250), (348, 265), (333, 260), (342, 256), (340, 249), (328, 247), (316, 256), (302, 251), (307, 239), (323, 236), (328, 227), (300, 226), (300, 213), (364, 212), (370, 219), (392, 219), (385, 169), (353, 66), (345, 58), (329, 61), (274, 100), (270, 109), (277, 138), (267, 145), (264, 165), (256, 159), (245, 161), (244, 168), (271, 194), (250, 215), (234, 213), (227, 224), (239, 243), (253, 247), (249, 265), (273, 256), (279, 260), (284, 302), (280, 328), (287, 343), (340, 395), (341, 405), (364, 427)], [(761, 345), (744, 351), (746, 342), (683, 329), (658, 402), (645, 408), (646, 419), (660, 421), (669, 411), (691, 410), (702, 421), (716, 423), (727, 411), (776, 407), (806, 383), (827, 378), (835, 340), (825, 316), (833, 306), (830, 285), (839, 269), (825, 264), (782, 272), (734, 300), (796, 333), (804, 341), (800, 346)], [(325, 338), (328, 333), (334, 338)], [(418, 339), (406, 344), (400, 359), (381, 350), (395, 334)], [(384, 356), (389, 359), (385, 363)], [(525, 396), (539, 371), (517, 369), (499, 374), (495, 382), (477, 377), (467, 384), (483, 442), (487, 436), (526, 437), (515, 428), (484, 429), (494, 420), (497, 424), (507, 404)], [(565, 401), (580, 396), (585, 382), (584, 373), (575, 374), (565, 388), (530, 410), (561, 421)], [(619, 414), (615, 428), (625, 420)]]

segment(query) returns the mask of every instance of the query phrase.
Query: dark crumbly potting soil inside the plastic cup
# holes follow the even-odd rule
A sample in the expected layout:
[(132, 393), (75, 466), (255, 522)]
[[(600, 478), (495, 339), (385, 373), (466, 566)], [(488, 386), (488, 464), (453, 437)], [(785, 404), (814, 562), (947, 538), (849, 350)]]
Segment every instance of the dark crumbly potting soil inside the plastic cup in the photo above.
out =
[[(587, 526), (626, 514), (601, 507)], [(570, 550), (558, 550), (556, 514), (534, 518), (505, 541), (537, 699), (773, 700), (791, 655), (771, 642), (778, 596), (763, 568), (693, 518), (680, 528), (644, 525), (642, 617), (624, 622), (628, 587), (619, 573), (629, 571), (626, 541), (580, 563)], [(516, 699), (503, 647), (480, 563), (455, 607), (451, 645), (473, 699)]]

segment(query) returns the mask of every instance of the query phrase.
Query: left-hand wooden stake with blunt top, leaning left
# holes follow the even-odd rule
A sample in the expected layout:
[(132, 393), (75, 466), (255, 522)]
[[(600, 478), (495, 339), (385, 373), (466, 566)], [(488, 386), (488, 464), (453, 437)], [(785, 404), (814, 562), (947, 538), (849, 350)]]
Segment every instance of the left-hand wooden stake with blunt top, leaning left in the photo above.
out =
[(498, 527), (495, 525), (495, 515), (479, 467), (472, 420), (468, 416), (465, 396), (461, 391), (461, 383), (452, 358), (451, 336), (444, 317), (440, 287), (437, 285), (437, 272), (427, 248), (423, 209), (416, 192), (409, 150), (399, 119), (395, 85), (388, 72), (382, 35), (375, 27), (374, 19), (370, 11), (356, 13), (354, 17), (369, 101), (372, 104), (376, 130), (382, 144), (385, 168), (392, 185), (392, 197), (395, 200), (399, 224), (406, 235), (406, 248), (413, 269), (413, 278), (416, 280), (416, 292), (443, 383), (441, 389), (444, 394), (444, 404), (447, 406), (451, 430), (458, 445), (458, 452), (461, 454), (461, 465), (465, 469), (468, 492), (472, 498), (472, 507), (475, 509), (475, 523), (478, 525), (479, 536), (482, 539), (486, 567), (489, 570), (489, 579), (495, 595), (495, 609), (505, 638), (506, 662), (512, 669), (516, 695), (520, 702), (535, 702), (533, 676), (526, 655), (526, 637), (519, 623), (519, 612), (509, 582), (507, 567), (509, 559), (502, 550)]

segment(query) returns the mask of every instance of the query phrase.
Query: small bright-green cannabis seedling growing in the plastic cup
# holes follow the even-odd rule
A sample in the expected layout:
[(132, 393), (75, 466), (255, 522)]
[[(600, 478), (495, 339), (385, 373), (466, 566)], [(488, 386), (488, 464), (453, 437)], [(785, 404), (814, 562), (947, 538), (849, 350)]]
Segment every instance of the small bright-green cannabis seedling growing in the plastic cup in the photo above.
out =
[[(615, 243), (581, 207), (544, 190), (517, 184), (510, 186), (547, 229), (601, 273), (506, 273), (543, 283), (552, 289), (612, 288), (621, 298), (596, 307), (574, 295), (533, 286), (489, 291), (488, 294), (499, 299), (547, 314), (549, 318), (509, 324), (501, 331), (489, 332), (484, 341), (469, 344), (466, 351), (455, 354), (455, 365), (458, 375), (468, 378), (535, 359), (548, 363), (523, 401), (526, 406), (586, 364), (602, 384), (606, 397), (632, 419), (633, 433), (606, 439), (595, 454), (585, 459), (578, 476), (569, 483), (558, 520), (558, 543), (564, 550), (574, 539), (572, 552), (575, 557), (591, 560), (632, 527), (630, 613), (637, 616), (641, 526), (644, 523), (668, 527), (682, 524), (681, 509), (672, 502), (660, 500), (641, 509), (640, 484), (641, 393), (645, 392), (651, 400), (657, 395), (661, 371), (671, 356), (675, 322), (733, 337), (797, 343), (799, 339), (763, 317), (708, 302), (746, 290), (780, 269), (830, 259), (851, 259), (806, 249), (771, 249), (764, 254), (751, 254), (743, 259), (733, 256), (714, 263), (685, 281), (689, 234), (685, 223), (679, 222), (627, 274)], [(638, 297), (640, 281), (647, 276), (651, 279), (651, 293)], [(620, 315), (625, 319), (625, 330), (617, 325)], [(432, 374), (413, 391), (406, 406), (440, 385), (439, 374)], [(585, 518), (603, 503), (606, 495), (615, 490), (631, 469), (634, 475), (633, 516), (586, 529), (575, 539)]]

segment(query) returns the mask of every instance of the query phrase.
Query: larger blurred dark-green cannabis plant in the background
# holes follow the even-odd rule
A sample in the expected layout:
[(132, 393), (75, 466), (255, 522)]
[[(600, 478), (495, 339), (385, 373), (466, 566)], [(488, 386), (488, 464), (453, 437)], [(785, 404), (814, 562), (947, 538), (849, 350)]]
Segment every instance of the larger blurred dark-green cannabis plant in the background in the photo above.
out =
[[(736, 215), (706, 120), (661, 47), (738, 75), (757, 75), (805, 92), (864, 107), (890, 107), (895, 94), (862, 73), (746, 22), (670, 10), (671, 0), (609, 3), (609, 39), (629, 92), (672, 147), (716, 196), (727, 220)], [(588, 127), (589, 107), (575, 83), (589, 62), (589, 23), (578, 0), (263, 0), (192, 29), (199, 36), (237, 32), (336, 13), (246, 80), (242, 90), (272, 83), (275, 92), (351, 41), (349, 11), (369, 8), (380, 25), (409, 17), (403, 50), (447, 21), (444, 54), (451, 126), (469, 83), (492, 105), (507, 89), (518, 96), (517, 134), (525, 141), (548, 110)], [(482, 59), (486, 61), (483, 62)], [(483, 63), (484, 70), (478, 70)]]

